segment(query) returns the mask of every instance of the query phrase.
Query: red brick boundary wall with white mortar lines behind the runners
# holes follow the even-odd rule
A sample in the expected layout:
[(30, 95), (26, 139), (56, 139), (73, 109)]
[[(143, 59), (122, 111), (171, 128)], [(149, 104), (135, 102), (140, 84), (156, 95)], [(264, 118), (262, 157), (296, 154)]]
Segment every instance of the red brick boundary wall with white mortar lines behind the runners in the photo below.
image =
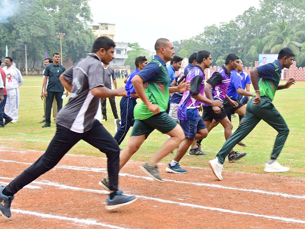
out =
[[(255, 67), (258, 66), (258, 61), (255, 61)], [(211, 75), (220, 67), (210, 67), (204, 70), (204, 74), (206, 75), (206, 79), (210, 78)], [(244, 72), (250, 75), (250, 71), (252, 67), (244, 67)], [(181, 71), (184, 71), (184, 68), (181, 67), (179, 71), (175, 72), (175, 75), (178, 76)], [(294, 78), (296, 81), (305, 81), (305, 67), (296, 67), (296, 61), (293, 61), (293, 64), (290, 66), (288, 70), (282, 71), (282, 80), (288, 80), (289, 78)]]

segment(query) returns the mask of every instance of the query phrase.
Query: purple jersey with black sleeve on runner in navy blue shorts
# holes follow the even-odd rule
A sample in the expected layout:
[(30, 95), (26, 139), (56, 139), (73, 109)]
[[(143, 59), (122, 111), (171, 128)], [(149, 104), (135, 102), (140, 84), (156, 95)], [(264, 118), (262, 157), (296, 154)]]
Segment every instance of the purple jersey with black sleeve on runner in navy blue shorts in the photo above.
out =
[(201, 102), (192, 98), (195, 94), (204, 94), (204, 73), (199, 66), (195, 66), (188, 72), (185, 81), (191, 82), (191, 89), (185, 91), (178, 105), (177, 113), (179, 120), (197, 120), (199, 116), (198, 107)]

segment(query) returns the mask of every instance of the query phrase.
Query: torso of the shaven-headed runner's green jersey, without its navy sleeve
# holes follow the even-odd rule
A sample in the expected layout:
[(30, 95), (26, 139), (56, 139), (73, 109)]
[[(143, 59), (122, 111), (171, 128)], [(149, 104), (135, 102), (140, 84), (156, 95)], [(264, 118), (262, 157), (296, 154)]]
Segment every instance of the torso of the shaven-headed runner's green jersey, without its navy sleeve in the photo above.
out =
[[(166, 111), (168, 106), (169, 94), (169, 84), (170, 77), (168, 75), (167, 69), (158, 59), (152, 59), (150, 62), (155, 62), (160, 67), (159, 76), (154, 81), (149, 81), (144, 84), (145, 94), (149, 101), (160, 107), (160, 112)], [(141, 101), (134, 108), (135, 119), (147, 119), (154, 115), (152, 111), (145, 106)]]

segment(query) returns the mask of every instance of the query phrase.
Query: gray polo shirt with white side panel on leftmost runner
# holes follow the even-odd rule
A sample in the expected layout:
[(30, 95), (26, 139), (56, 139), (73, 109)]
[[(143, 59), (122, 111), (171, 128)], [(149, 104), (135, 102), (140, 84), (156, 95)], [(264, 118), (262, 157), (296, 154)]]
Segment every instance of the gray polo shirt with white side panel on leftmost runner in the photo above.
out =
[(70, 98), (56, 116), (56, 124), (74, 132), (84, 133), (93, 127), (100, 99), (91, 89), (104, 84), (104, 68), (99, 56), (89, 53), (63, 73), (72, 82)]

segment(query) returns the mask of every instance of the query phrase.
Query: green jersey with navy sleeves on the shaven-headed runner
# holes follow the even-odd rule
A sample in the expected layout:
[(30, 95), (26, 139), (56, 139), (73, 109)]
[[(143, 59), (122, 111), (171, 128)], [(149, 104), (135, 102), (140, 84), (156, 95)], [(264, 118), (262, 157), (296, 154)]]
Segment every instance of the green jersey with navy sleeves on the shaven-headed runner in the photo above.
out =
[[(157, 59), (157, 58), (158, 59)], [(141, 71), (138, 72), (144, 80), (144, 90), (149, 101), (160, 107), (160, 112), (166, 111), (168, 106), (170, 78), (165, 62), (155, 56)], [(164, 62), (164, 63), (161, 63)], [(154, 115), (141, 101), (134, 108), (135, 119), (147, 119)]]

